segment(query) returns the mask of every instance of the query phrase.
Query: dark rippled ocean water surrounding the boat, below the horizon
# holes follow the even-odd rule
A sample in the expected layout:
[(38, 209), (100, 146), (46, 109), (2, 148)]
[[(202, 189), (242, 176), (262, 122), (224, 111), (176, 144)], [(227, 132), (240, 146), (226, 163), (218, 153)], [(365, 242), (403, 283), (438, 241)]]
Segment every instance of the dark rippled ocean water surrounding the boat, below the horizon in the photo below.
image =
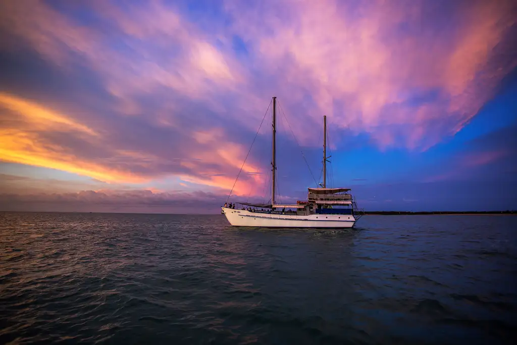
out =
[(364, 216), (356, 226), (0, 213), (0, 344), (517, 339), (517, 216)]

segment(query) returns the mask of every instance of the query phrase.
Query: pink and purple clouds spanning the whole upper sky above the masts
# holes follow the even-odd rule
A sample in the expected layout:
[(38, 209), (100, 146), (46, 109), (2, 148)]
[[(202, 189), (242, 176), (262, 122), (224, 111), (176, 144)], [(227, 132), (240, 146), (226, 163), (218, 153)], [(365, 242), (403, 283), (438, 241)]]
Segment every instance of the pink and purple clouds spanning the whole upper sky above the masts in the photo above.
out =
[[(311, 128), (327, 114), (333, 125), (368, 132), (380, 146), (427, 148), (460, 130), (517, 66), (516, 59), (498, 64), (504, 52), (497, 47), (514, 23), (508, 14), (510, 1), (459, 6), (448, 30), (429, 27), (425, 17), (436, 9), (426, 2), (269, 5), (226, 2), (232, 25), (215, 25), (214, 32), (206, 33), (162, 2), (124, 10), (96, 3), (93, 10), (123, 34), (119, 39), (129, 55), (103, 44), (100, 29), (74, 24), (43, 3), (10, 3), (4, 10), (10, 29), (52, 61), (63, 64), (70, 57), (67, 50), (82, 54), (105, 78), (109, 92), (125, 104), (116, 109), (143, 111), (132, 99), (165, 87), (220, 112), (227, 109), (217, 100), (219, 94), (233, 94), (234, 110), (260, 118), (274, 94), (285, 99), (290, 115), (306, 118), (295, 130), (312, 142)], [(402, 25), (410, 32), (401, 31)], [(273, 88), (254, 86), (248, 66), (228, 47), (212, 43), (216, 38), (228, 42), (231, 34), (251, 46), (258, 69), (276, 74)], [(415, 90), (438, 94), (431, 104), (408, 105)], [(300, 112), (297, 103), (308, 95), (314, 104)], [(244, 119), (235, 116), (249, 126)]]

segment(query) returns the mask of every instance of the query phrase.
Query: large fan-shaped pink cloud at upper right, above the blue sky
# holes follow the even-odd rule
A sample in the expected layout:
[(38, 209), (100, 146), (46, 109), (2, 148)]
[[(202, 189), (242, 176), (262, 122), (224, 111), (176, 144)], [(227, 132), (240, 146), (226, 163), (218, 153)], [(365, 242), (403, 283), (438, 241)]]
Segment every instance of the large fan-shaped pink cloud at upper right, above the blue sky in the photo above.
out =
[[(427, 2), (227, 2), (227, 9), (234, 33), (281, 73), (290, 102), (315, 98), (305, 111), (313, 121), (330, 114), (334, 125), (370, 132), (381, 146), (427, 148), (461, 129), (517, 66), (515, 57), (501, 62), (499, 48), (515, 22), (512, 3), (464, 5), (448, 30), (426, 27)], [(413, 31), (401, 33), (402, 25)], [(438, 94), (432, 104), (408, 105), (404, 95), (415, 90)]]

